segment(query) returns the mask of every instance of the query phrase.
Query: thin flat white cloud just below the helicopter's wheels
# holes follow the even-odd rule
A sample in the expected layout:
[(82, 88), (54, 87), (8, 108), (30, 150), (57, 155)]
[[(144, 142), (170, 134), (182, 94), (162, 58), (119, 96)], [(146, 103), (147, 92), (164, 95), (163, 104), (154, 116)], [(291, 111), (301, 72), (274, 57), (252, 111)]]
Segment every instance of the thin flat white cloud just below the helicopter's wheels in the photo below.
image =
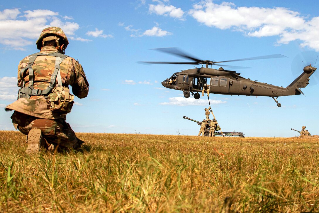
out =
[[(176, 106), (207, 106), (206, 99), (194, 99), (194, 98), (184, 98), (184, 97), (173, 97), (168, 98), (169, 102), (159, 103), (160, 105), (176, 105)], [(211, 104), (224, 104), (226, 101), (222, 100), (210, 100)]]

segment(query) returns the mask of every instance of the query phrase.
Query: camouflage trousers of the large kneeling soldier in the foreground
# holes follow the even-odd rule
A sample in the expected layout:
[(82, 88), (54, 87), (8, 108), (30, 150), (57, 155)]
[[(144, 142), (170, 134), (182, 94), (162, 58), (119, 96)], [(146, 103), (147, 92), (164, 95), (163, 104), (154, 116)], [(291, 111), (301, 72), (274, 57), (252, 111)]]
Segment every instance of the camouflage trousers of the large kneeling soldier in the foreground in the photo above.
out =
[(78, 148), (84, 143), (62, 118), (43, 119), (15, 111), (11, 119), (14, 127), (23, 134), (28, 135), (31, 129), (38, 128), (48, 144), (58, 145), (60, 148)]

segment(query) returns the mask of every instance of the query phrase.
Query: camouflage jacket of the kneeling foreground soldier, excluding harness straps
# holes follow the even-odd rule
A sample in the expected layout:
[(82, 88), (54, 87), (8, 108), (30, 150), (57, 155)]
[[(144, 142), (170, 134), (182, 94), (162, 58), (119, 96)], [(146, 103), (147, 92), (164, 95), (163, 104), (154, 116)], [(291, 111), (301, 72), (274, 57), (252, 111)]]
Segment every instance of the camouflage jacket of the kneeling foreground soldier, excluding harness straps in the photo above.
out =
[[(57, 52), (55, 47), (46, 46), (40, 51), (43, 54)], [(20, 78), (20, 70), (27, 66), (28, 58), (20, 61), (18, 66), (18, 86), (23, 87), (23, 81)], [(55, 66), (54, 56), (38, 56), (32, 66), (34, 72), (34, 89), (44, 90), (48, 87), (51, 80), (51, 75), (54, 72)], [(82, 66), (71, 57), (67, 57), (60, 64), (60, 73), (64, 86), (71, 85), (72, 92), (78, 98), (85, 98), (89, 91), (89, 84), (86, 80)], [(29, 83), (29, 72), (23, 75), (25, 87)], [(65, 119), (65, 114), (55, 113), (50, 109), (50, 103), (44, 96), (31, 96), (28, 98), (20, 98), (14, 103), (6, 106), (5, 110), (16, 110), (18, 112), (45, 119)]]

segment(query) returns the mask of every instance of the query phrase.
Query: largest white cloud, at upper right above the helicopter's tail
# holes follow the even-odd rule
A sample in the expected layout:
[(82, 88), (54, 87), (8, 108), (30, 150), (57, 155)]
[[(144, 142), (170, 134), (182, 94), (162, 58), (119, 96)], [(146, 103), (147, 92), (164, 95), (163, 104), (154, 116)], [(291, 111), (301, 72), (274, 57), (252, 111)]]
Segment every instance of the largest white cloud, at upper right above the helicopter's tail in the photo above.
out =
[(302, 47), (319, 51), (319, 17), (309, 20), (283, 7), (236, 7), (234, 3), (215, 4), (211, 0), (194, 4), (193, 8), (189, 15), (208, 27), (237, 30), (252, 37), (279, 36), (278, 44), (300, 40)]

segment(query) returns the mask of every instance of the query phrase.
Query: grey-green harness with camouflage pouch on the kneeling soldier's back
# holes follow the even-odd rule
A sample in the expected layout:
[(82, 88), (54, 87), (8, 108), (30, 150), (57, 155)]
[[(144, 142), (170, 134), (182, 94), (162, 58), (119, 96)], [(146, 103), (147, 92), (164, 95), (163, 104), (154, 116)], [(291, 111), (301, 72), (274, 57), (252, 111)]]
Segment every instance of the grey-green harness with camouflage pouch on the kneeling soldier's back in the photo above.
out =
[[(44, 89), (44, 90), (34, 89), (33, 87), (34, 73), (33, 73), (32, 65), (38, 56), (55, 56), (56, 57), (55, 68), (51, 76), (50, 83), (47, 89)], [(51, 111), (55, 111), (55, 112), (60, 111), (63, 114), (69, 113), (74, 103), (73, 101), (74, 95), (70, 94), (69, 87), (62, 86), (62, 79), (60, 74), (60, 64), (67, 57), (68, 57), (67, 55), (64, 55), (59, 52), (55, 52), (51, 54), (43, 54), (38, 52), (32, 55), (29, 55), (28, 65), (24, 67), (23, 69), (21, 69), (19, 73), (20, 78), (23, 81), (23, 86), (19, 89), (18, 99), (43, 95), (44, 97), (46, 97), (46, 99), (48, 99), (50, 103)], [(23, 74), (26, 72), (26, 70), (29, 70), (28, 87), (25, 87), (25, 82), (23, 77)], [(56, 85), (56, 80), (57, 80), (57, 85)]]

